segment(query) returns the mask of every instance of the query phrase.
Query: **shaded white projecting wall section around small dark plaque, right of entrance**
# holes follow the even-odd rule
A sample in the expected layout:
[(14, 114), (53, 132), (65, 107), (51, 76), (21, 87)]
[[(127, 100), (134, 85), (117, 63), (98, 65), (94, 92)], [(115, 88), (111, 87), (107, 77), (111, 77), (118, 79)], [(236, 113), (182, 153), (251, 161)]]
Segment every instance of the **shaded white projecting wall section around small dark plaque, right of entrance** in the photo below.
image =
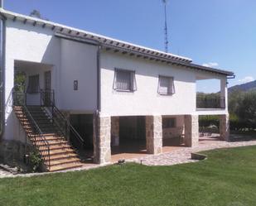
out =
[[(97, 109), (97, 50), (75, 41), (61, 40), (61, 108), (71, 113), (94, 113)], [(78, 90), (74, 90), (78, 80)]]

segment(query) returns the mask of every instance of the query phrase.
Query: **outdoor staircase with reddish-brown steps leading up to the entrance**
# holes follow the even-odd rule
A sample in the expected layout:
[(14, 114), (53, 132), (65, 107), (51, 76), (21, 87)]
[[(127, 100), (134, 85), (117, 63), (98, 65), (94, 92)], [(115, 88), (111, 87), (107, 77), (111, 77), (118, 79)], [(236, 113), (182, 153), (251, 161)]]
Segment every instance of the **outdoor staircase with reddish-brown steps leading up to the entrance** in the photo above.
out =
[(68, 170), (84, 165), (44, 108), (14, 106), (13, 109), (27, 137), (40, 152), (47, 171)]

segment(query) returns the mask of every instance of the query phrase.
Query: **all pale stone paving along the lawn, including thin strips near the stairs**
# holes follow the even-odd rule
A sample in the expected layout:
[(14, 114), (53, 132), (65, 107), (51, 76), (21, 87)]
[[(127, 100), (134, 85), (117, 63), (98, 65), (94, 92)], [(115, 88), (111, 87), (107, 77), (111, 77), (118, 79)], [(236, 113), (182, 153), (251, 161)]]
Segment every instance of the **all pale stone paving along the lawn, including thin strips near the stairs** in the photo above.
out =
[[(169, 151), (166, 153), (162, 153), (160, 155), (147, 155), (142, 156), (141, 158), (133, 158), (127, 161), (138, 162), (143, 165), (177, 165), (189, 162), (196, 162), (197, 160), (191, 160), (191, 152), (198, 152), (198, 151), (209, 151), (214, 149), (220, 148), (229, 148), (229, 147), (238, 147), (238, 146), (254, 146), (256, 145), (255, 141), (235, 141), (235, 142), (228, 142), (228, 141), (219, 141), (216, 138), (212, 137), (203, 137), (200, 138), (199, 146), (196, 147), (179, 147), (174, 151)], [(80, 169), (75, 170), (89, 170), (93, 168), (98, 168), (104, 165), (92, 165), (82, 167)], [(65, 170), (61, 172), (72, 171), (72, 170)], [(6, 170), (2, 170), (0, 165), (0, 178), (4, 177), (16, 177), (16, 176), (32, 176), (32, 175), (47, 175), (51, 173), (37, 173), (37, 174), (25, 174), (25, 175), (15, 175), (12, 172), (8, 172)]]

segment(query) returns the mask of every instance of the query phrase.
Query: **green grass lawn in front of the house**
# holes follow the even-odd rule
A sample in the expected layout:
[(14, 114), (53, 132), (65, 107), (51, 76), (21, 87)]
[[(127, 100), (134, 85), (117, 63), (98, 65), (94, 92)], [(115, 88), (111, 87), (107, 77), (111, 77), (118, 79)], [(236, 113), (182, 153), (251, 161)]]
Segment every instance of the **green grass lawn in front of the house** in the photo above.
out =
[(185, 165), (0, 179), (0, 205), (255, 205), (256, 146), (204, 153), (207, 160)]

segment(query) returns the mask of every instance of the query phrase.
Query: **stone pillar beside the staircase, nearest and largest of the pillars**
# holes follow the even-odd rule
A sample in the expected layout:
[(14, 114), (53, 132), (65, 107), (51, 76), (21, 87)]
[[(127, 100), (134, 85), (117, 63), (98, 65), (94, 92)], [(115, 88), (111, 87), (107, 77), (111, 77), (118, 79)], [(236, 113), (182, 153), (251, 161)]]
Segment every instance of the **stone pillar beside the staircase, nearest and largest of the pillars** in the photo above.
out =
[(94, 115), (94, 163), (105, 164), (111, 161), (111, 118)]

